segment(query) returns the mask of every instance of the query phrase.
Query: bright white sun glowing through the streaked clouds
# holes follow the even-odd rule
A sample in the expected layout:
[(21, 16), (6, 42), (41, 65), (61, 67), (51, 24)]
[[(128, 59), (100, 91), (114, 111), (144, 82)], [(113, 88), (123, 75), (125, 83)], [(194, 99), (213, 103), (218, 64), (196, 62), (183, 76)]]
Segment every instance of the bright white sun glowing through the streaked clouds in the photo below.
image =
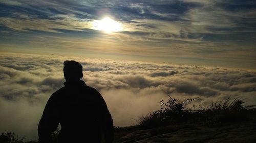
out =
[(109, 17), (105, 17), (102, 20), (96, 20), (93, 23), (93, 26), (95, 30), (104, 31), (105, 33), (122, 31), (121, 24)]

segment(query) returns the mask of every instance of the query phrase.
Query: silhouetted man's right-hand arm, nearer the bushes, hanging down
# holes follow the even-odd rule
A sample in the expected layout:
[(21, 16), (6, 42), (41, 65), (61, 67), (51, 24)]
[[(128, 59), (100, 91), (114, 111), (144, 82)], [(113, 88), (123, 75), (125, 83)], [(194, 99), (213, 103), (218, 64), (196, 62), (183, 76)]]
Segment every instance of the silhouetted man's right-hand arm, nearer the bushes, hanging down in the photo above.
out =
[(99, 122), (102, 125), (105, 142), (112, 143), (114, 139), (114, 127), (113, 119), (111, 117), (110, 111), (106, 106), (106, 102), (98, 91), (96, 91), (100, 100), (100, 119)]

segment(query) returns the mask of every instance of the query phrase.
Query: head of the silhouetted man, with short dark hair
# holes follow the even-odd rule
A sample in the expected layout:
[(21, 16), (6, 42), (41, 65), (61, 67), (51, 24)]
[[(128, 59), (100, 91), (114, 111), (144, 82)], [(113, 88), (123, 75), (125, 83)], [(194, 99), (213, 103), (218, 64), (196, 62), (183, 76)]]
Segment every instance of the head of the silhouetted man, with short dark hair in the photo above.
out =
[(82, 65), (80, 63), (76, 61), (65, 61), (63, 64), (63, 72), (66, 81), (75, 81), (82, 78)]

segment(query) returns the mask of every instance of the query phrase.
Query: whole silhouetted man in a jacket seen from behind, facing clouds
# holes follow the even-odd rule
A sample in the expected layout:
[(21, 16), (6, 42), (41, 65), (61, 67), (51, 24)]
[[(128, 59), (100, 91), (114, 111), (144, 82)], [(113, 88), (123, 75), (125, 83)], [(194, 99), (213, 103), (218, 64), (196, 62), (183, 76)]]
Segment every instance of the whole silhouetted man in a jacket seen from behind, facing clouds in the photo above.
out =
[(82, 66), (75, 61), (65, 61), (63, 72), (65, 87), (49, 98), (39, 122), (39, 143), (52, 142), (51, 134), (59, 123), (58, 142), (112, 142), (110, 112), (99, 92), (80, 80)]

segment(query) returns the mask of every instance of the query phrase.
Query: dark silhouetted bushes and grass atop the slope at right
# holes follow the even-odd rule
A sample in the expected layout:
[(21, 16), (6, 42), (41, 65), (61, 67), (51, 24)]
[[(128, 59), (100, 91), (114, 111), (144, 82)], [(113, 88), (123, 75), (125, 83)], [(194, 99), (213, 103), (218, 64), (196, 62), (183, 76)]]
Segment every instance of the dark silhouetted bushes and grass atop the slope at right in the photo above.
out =
[(234, 123), (256, 119), (255, 105), (246, 105), (244, 99), (238, 97), (230, 100), (219, 99), (211, 102), (209, 107), (199, 106), (195, 109), (186, 105), (194, 100), (202, 101), (200, 97), (179, 101), (169, 96), (167, 102), (160, 101), (161, 108), (139, 118), (139, 126), (144, 129), (183, 122), (203, 122), (205, 124)]

